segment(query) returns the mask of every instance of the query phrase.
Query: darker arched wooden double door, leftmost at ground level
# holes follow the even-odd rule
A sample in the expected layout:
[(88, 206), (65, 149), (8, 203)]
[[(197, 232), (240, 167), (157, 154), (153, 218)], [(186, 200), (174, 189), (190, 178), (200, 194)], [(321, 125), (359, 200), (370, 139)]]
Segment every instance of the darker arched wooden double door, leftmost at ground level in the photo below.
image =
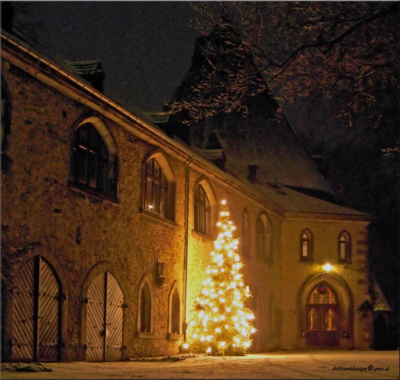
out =
[(61, 286), (42, 256), (26, 261), (13, 287), (12, 360), (59, 360)]

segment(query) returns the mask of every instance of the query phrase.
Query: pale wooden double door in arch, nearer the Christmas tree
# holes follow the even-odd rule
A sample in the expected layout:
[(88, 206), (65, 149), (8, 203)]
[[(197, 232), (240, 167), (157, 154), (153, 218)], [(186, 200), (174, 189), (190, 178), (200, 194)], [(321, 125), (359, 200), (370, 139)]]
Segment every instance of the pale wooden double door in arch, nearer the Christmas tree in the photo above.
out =
[(123, 293), (114, 276), (97, 275), (87, 292), (86, 360), (122, 360), (123, 308)]

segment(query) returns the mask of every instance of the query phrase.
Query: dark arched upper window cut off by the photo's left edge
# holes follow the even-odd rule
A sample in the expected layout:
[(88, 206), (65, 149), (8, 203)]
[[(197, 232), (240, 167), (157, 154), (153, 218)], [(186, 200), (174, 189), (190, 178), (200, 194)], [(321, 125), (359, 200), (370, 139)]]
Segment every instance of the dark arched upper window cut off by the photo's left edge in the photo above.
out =
[(8, 170), (11, 163), (6, 151), (8, 139), (11, 134), (11, 111), (12, 103), (8, 86), (3, 77), (1, 77), (1, 170)]

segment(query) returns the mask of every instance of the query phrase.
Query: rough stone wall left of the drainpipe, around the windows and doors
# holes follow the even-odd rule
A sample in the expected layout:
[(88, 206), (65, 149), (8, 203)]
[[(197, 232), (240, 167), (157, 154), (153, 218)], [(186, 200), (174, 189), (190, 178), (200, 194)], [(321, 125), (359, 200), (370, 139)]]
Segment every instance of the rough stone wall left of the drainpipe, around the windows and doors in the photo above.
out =
[[(12, 104), (6, 151), (12, 164), (1, 176), (1, 238), (14, 251), (38, 242), (31, 254), (62, 268), (59, 277), (65, 280), (62, 287), (68, 293), (64, 359), (82, 359), (82, 284), (91, 269), (105, 261), (127, 289), (126, 356), (178, 352), (180, 340), (167, 339), (167, 322), (174, 281), (183, 292), (183, 165), (167, 157), (176, 180), (176, 222), (142, 213), (142, 163), (156, 146), (22, 70), (5, 64), (2, 69)], [(71, 136), (77, 121), (87, 116), (98, 117), (117, 146), (116, 201), (69, 186)], [(165, 263), (165, 283), (159, 287), (154, 283), (157, 259)], [(137, 296), (146, 274), (155, 296), (154, 336), (141, 339), (137, 337)]]

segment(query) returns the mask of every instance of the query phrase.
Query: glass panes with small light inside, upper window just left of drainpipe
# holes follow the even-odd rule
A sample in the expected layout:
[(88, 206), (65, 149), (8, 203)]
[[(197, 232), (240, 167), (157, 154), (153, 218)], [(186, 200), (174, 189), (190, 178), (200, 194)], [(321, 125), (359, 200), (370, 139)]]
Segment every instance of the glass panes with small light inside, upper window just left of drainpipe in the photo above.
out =
[(167, 217), (168, 182), (158, 161), (151, 158), (146, 163), (145, 208)]

